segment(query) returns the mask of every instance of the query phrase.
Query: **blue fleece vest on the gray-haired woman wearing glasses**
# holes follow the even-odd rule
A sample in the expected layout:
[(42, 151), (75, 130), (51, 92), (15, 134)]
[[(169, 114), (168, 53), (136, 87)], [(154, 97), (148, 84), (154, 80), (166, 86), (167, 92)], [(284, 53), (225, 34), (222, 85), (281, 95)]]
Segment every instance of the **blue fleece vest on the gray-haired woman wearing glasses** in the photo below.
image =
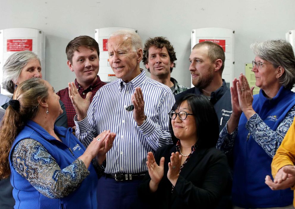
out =
[[(260, 90), (254, 95), (253, 109), (266, 123), (276, 130), (288, 111), (295, 105), (295, 93), (281, 87), (277, 95), (267, 99)], [(245, 128), (247, 118), (242, 113), (238, 135), (234, 144), (233, 204), (242, 208), (273, 208), (292, 205), (291, 189), (272, 191), (265, 183), (271, 175), (272, 157), (259, 146)], [(263, 140), (263, 136), (260, 136)]]

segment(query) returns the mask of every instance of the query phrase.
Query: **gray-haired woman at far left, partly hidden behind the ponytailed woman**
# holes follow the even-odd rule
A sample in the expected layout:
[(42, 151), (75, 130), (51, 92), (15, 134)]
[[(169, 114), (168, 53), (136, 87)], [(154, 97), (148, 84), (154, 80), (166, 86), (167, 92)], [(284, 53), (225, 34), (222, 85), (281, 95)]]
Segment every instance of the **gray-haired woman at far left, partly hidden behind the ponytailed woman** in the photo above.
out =
[[(10, 55), (3, 66), (3, 88), (14, 93), (17, 86), (32, 77), (42, 78), (40, 59), (34, 52), (21, 51)], [(67, 115), (65, 105), (59, 100), (59, 104), (63, 110), (55, 121), (56, 126), (67, 128)], [(2, 105), (5, 110), (8, 102)], [(15, 201), (12, 197), (12, 186), (9, 178), (0, 180), (0, 208), (13, 208)]]

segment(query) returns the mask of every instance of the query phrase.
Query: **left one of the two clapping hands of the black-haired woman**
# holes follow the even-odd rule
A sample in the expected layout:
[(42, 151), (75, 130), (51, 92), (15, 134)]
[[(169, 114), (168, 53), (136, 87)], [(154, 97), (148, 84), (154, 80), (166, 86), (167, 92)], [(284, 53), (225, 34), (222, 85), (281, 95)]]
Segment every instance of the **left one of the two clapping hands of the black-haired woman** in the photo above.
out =
[(150, 191), (155, 192), (158, 189), (158, 185), (164, 176), (164, 157), (161, 157), (160, 165), (156, 163), (155, 157), (152, 152), (148, 152), (148, 174), (150, 175)]

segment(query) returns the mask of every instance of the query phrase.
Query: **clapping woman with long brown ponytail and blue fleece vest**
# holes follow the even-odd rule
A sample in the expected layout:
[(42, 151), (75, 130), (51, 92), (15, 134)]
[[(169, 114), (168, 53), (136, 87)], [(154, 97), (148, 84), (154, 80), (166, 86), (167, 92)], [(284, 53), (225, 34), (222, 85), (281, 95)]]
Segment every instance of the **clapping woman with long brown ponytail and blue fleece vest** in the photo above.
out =
[(47, 81), (15, 90), (0, 130), (0, 177), (10, 175), (15, 208), (97, 208), (99, 168), (115, 134), (105, 131), (85, 149), (71, 128), (54, 125), (60, 114)]

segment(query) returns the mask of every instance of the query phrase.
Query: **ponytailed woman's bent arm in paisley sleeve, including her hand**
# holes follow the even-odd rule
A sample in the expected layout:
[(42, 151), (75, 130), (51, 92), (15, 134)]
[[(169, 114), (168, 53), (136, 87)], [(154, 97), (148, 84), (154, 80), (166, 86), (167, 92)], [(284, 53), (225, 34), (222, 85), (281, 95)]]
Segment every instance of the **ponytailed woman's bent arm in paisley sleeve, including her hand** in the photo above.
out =
[[(34, 139), (24, 139), (12, 152), (12, 166), (41, 194), (52, 199), (62, 198), (75, 191), (90, 174), (87, 168), (91, 160), (95, 156), (100, 158), (99, 152), (110, 149), (114, 135), (103, 132), (99, 137), (100, 141), (93, 139), (84, 154), (64, 169), (59, 167), (42, 144)], [(27, 169), (22, 169), (24, 166)]]

